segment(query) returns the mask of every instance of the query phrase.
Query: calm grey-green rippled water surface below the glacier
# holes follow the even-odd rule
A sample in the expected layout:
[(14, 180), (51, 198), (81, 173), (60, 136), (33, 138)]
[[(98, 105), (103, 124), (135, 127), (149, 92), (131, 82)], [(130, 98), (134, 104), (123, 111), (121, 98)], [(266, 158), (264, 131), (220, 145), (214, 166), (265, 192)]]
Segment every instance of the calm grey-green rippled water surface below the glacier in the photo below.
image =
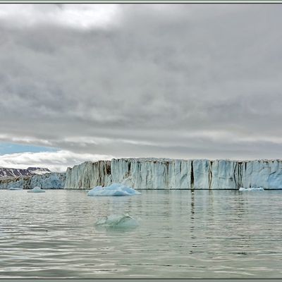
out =
[[(0, 278), (282, 277), (282, 191), (0, 190)], [(97, 228), (126, 212), (133, 230)]]

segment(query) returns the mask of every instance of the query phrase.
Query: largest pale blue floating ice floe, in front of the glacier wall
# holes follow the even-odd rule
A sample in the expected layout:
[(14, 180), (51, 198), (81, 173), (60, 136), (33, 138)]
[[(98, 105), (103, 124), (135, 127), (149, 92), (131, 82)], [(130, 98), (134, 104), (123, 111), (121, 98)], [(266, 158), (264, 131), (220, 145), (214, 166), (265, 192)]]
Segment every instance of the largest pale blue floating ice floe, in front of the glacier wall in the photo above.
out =
[(88, 196), (132, 196), (140, 194), (135, 189), (118, 183), (106, 187), (97, 186), (87, 193)]

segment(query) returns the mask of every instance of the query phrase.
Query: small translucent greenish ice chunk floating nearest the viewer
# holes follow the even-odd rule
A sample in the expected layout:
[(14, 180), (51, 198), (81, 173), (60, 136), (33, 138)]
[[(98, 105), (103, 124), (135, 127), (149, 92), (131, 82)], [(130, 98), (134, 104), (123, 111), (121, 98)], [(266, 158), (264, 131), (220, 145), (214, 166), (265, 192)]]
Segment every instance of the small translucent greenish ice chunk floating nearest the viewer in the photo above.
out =
[(96, 226), (109, 228), (135, 228), (138, 222), (128, 214), (111, 214), (102, 219), (98, 219)]

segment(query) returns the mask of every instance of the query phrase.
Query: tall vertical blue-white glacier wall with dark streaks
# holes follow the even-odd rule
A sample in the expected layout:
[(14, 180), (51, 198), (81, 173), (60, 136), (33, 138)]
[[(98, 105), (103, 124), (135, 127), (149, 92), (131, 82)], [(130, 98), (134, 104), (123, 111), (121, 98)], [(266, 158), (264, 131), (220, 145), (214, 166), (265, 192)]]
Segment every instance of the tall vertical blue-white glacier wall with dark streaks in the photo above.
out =
[(282, 189), (282, 161), (112, 159), (68, 168), (65, 188), (122, 183), (135, 189)]

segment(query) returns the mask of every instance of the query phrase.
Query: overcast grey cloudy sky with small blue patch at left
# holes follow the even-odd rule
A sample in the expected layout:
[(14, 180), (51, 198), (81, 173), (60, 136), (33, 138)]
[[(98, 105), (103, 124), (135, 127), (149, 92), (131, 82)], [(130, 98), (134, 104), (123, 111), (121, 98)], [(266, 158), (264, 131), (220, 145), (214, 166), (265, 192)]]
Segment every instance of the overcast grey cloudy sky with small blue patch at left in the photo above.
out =
[(1, 4), (0, 166), (281, 159), (281, 13)]

